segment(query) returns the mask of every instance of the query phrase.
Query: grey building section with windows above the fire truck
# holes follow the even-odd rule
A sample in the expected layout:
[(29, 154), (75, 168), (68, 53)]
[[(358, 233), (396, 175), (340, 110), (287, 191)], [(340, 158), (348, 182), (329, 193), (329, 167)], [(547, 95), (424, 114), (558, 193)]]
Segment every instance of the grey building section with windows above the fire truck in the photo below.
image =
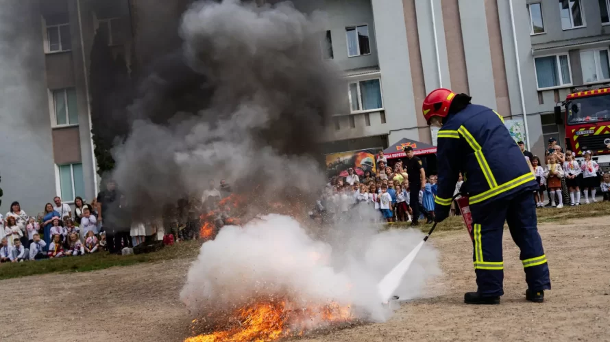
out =
[(544, 142), (562, 144), (565, 127), (552, 114), (576, 88), (610, 83), (610, 1), (528, 0), (526, 3), (537, 101), (528, 120), (540, 120)]

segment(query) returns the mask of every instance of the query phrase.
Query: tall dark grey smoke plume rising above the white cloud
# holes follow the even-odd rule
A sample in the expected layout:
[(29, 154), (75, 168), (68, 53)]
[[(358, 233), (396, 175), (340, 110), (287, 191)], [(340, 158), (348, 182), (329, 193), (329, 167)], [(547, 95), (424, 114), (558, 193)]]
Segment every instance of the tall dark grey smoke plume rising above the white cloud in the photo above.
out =
[[(290, 3), (197, 2), (180, 53), (152, 66), (130, 107), (113, 177), (134, 218), (227, 179), (260, 200), (312, 199), (315, 162), (339, 77), (321, 58), (324, 16)], [(256, 202), (253, 199), (252, 202)]]

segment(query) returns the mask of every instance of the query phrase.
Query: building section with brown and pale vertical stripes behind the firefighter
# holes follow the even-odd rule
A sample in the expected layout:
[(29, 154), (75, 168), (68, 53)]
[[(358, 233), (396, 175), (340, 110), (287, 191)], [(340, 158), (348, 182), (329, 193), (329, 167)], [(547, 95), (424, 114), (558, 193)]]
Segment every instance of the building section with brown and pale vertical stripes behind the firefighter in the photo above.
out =
[[(405, 137), (434, 144), (421, 105), (435, 88), (466, 92), (520, 127), (537, 109), (535, 79), (526, 79), (534, 66), (525, 0), (293, 3), (328, 13), (324, 57), (345, 74), (345, 111), (328, 127), (328, 153)], [(539, 120), (527, 123), (529, 142), (541, 145)]]

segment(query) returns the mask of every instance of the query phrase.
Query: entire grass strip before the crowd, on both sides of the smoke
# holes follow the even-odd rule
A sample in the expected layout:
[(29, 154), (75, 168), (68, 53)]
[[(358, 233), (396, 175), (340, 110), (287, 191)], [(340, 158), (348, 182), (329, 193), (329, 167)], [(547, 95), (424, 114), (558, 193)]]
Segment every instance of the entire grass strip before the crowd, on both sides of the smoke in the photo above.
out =
[[(563, 209), (538, 209), (538, 222), (559, 222), (580, 218), (610, 215), (610, 203), (600, 202), (580, 207), (565, 207)], [(422, 224), (419, 228), (428, 232), (430, 224)], [(385, 224), (382, 229), (408, 228), (408, 223), (397, 222)], [(461, 216), (454, 216), (437, 226), (437, 231), (459, 231), (464, 229)], [(35, 274), (90, 272), (97, 269), (106, 269), (114, 266), (128, 266), (138, 263), (155, 263), (172, 259), (195, 259), (199, 254), (202, 241), (182, 241), (174, 246), (167, 246), (162, 250), (149, 254), (110, 255), (106, 252), (84, 257), (65, 257), (54, 260), (28, 261), (24, 263), (3, 263), (0, 265), (0, 280), (33, 276)]]

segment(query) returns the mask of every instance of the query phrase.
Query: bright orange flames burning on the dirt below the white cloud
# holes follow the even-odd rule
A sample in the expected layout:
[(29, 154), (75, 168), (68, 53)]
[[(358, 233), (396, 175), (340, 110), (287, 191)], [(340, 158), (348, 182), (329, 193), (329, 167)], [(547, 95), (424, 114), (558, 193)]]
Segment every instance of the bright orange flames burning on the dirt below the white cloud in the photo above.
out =
[(333, 324), (352, 319), (350, 307), (332, 303), (321, 308), (290, 308), (285, 301), (260, 302), (241, 308), (235, 316), (239, 326), (190, 337), (185, 342), (267, 342), (301, 336), (312, 322)]

